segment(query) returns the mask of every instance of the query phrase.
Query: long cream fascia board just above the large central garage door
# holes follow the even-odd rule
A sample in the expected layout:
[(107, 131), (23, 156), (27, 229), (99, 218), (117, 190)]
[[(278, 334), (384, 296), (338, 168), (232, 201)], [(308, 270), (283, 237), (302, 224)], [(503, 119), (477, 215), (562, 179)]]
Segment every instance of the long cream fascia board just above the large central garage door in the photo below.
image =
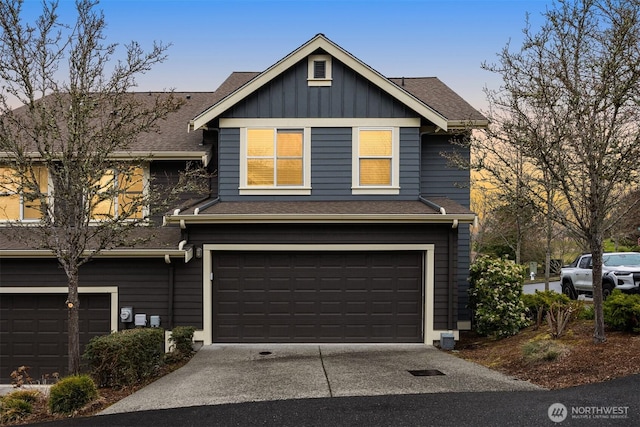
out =
[(227, 214), (167, 215), (169, 223), (183, 224), (250, 224), (250, 223), (473, 223), (475, 214)]

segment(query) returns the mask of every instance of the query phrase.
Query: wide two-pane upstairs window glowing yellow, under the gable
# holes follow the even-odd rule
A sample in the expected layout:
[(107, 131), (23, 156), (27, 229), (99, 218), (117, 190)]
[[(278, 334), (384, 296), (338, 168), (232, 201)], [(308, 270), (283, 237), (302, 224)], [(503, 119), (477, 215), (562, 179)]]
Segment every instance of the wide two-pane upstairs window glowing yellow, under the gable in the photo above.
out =
[(308, 194), (297, 191), (309, 188), (308, 140), (305, 129), (244, 129), (241, 194)]

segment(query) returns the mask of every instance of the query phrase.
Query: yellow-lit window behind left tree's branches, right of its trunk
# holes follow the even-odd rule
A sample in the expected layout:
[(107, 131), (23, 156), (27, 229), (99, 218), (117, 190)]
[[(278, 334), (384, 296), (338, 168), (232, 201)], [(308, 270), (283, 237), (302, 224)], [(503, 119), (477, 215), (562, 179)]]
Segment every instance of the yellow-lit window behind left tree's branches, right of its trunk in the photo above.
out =
[(95, 183), (93, 219), (100, 221), (124, 216), (127, 219), (144, 217), (145, 170), (139, 166), (109, 169)]

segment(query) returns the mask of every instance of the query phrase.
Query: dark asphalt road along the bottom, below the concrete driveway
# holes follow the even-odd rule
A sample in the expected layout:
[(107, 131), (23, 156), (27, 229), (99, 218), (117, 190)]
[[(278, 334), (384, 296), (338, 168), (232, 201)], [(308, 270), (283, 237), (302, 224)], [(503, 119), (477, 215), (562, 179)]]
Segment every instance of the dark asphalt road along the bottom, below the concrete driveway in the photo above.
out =
[(634, 375), (556, 391), (294, 399), (128, 412), (33, 425), (638, 426), (638, 395), (640, 375)]

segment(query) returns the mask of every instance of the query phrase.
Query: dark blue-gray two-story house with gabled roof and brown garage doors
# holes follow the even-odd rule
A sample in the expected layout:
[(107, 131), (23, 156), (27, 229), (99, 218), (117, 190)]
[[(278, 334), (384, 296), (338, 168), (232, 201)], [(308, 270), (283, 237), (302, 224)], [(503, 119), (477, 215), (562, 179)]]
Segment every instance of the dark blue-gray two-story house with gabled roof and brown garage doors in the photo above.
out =
[[(432, 344), (470, 326), (469, 172), (442, 153), (487, 119), (440, 80), (384, 77), (318, 34), (179, 95), (136, 147), (152, 177), (217, 171), (210, 194), (83, 266), (83, 343), (138, 315), (195, 326), (205, 345)], [(51, 254), (0, 237), (1, 380), (64, 370), (65, 295)]]

